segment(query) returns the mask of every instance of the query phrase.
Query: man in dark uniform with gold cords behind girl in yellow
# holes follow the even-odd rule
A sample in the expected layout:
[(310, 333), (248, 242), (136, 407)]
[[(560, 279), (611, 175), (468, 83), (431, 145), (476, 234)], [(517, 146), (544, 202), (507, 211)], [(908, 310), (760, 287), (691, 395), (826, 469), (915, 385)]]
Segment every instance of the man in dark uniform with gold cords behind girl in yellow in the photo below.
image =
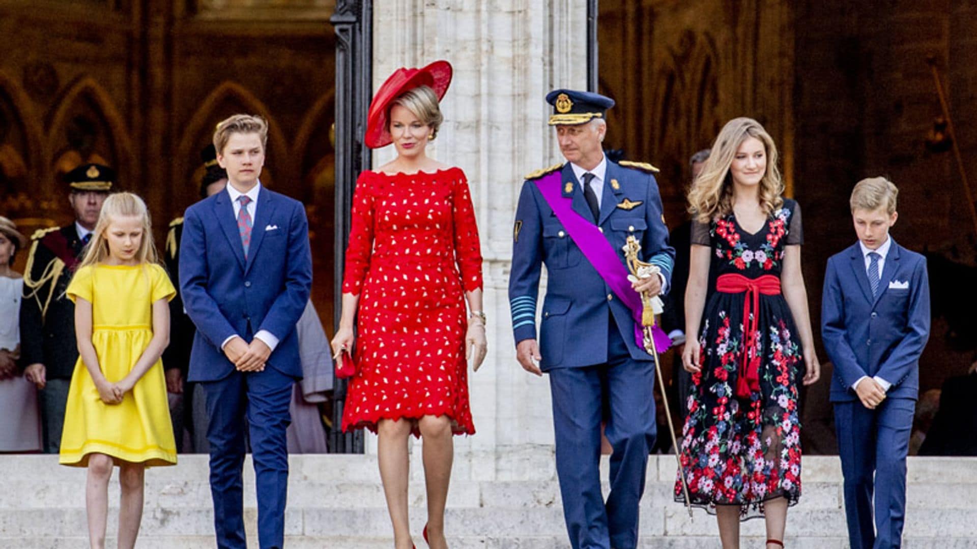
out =
[(115, 172), (101, 164), (83, 164), (68, 172), (64, 181), (70, 188), (68, 202), (74, 223), (31, 236), (21, 302), (21, 353), (27, 364), (24, 377), (40, 389), (47, 453), (58, 453), (61, 447), (67, 389), (78, 359), (74, 304), (64, 297), (64, 290), (99, 221)]

